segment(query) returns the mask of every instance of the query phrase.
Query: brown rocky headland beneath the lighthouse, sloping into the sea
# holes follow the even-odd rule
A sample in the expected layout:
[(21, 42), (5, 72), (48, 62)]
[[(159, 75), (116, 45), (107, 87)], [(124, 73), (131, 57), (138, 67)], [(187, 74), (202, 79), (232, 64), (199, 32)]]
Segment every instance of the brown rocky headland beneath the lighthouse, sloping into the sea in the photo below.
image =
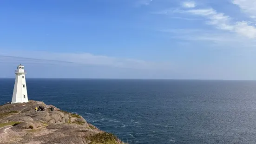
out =
[[(39, 105), (46, 111), (34, 111)], [(0, 144), (124, 144), (80, 115), (51, 106), (33, 100), (1, 105)]]

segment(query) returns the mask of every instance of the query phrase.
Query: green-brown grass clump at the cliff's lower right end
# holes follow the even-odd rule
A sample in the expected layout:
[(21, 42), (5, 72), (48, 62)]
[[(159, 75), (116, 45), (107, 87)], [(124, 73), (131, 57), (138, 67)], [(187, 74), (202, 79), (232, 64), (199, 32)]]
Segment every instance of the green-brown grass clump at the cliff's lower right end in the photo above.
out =
[(118, 138), (112, 133), (98, 133), (91, 137), (86, 137), (87, 140), (92, 141), (90, 144), (118, 144)]

